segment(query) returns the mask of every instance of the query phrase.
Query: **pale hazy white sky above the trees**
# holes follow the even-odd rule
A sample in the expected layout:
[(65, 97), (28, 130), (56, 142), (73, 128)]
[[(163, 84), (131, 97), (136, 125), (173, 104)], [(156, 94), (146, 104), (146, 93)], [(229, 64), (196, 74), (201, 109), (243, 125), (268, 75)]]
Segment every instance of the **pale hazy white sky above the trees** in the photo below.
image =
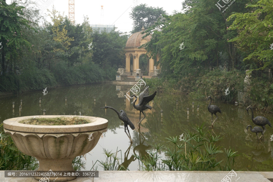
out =
[[(24, 1), (24, 0), (23, 0)], [(69, 0), (32, 0), (39, 5), (39, 9), (43, 14), (47, 13), (46, 8), (55, 9), (64, 16), (69, 16)], [(135, 2), (134, 2), (135, 1)], [(129, 13), (135, 5), (147, 4), (147, 6), (163, 8), (168, 14), (172, 14), (174, 10), (181, 11), (182, 2), (184, 0), (74, 0), (75, 22), (81, 24), (83, 15), (89, 17), (90, 24), (114, 24), (121, 32), (130, 32), (133, 28), (133, 20), (130, 19)], [(6, 1), (8, 4), (11, 0)], [(103, 9), (101, 9), (103, 5)], [(49, 17), (46, 18), (50, 21)]]

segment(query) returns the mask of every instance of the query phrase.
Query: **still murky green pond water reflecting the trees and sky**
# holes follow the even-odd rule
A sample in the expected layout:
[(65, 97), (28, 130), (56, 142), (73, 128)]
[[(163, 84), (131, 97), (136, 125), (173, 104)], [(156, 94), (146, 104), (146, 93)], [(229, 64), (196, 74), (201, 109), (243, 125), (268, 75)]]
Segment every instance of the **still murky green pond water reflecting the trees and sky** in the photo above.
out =
[[(91, 170), (96, 160), (105, 161), (103, 149), (118, 152), (119, 160), (129, 170), (139, 170), (139, 161), (133, 156), (143, 156), (148, 150), (153, 149), (155, 144), (167, 142), (165, 137), (179, 137), (187, 130), (194, 132), (193, 126), (200, 126), (205, 122), (206, 130), (221, 135), (224, 139), (217, 142), (222, 150), (233, 149), (241, 154), (235, 159), (234, 170), (244, 171), (272, 171), (273, 170), (273, 141), (270, 136), (273, 128), (266, 125), (265, 139), (260, 142), (255, 133), (245, 133), (247, 125), (254, 127), (251, 115), (248, 115), (245, 108), (226, 103), (212, 102), (220, 107), (222, 113), (214, 128), (211, 127), (211, 113), (207, 106), (209, 100), (192, 100), (188, 96), (171, 95), (168, 93), (157, 93), (154, 102), (150, 102), (152, 110), (145, 110), (146, 118), (142, 121), (141, 134), (138, 132), (139, 111), (133, 108), (129, 101), (124, 98), (125, 93), (132, 86), (116, 86), (111, 84), (93, 84), (83, 86), (68, 86), (47, 89), (48, 93), (43, 95), (42, 91), (33, 91), (19, 95), (5, 96), (0, 99), (0, 123), (12, 117), (42, 115), (45, 109), (46, 115), (81, 115), (96, 116), (108, 120), (107, 132), (103, 133), (96, 147), (86, 154), (86, 170)], [(153, 90), (150, 88), (150, 94)], [(41, 104), (39, 98), (41, 97)], [(65, 101), (67, 97), (67, 101)], [(94, 98), (96, 97), (96, 102)], [(22, 99), (22, 110), (19, 106)], [(177, 100), (177, 102), (176, 102)], [(12, 110), (12, 102), (15, 102), (15, 110)], [(137, 101), (138, 102), (138, 101)], [(194, 102), (194, 105), (192, 104)], [(117, 114), (110, 109), (100, 107), (112, 106), (116, 110), (124, 110), (127, 116), (135, 125), (135, 130), (130, 130), (133, 144), (124, 132), (124, 125)], [(199, 110), (197, 112), (197, 105)], [(187, 115), (187, 108), (189, 114)], [(163, 115), (161, 117), (161, 110)], [(250, 112), (251, 113), (251, 112)], [(273, 116), (260, 111), (254, 111), (254, 117), (265, 116), (273, 124)], [(143, 115), (141, 115), (143, 118)], [(215, 119), (215, 116), (213, 116)], [(260, 134), (261, 135), (261, 134)], [(181, 141), (182, 142), (182, 141)], [(164, 158), (164, 153), (161, 153)], [(219, 159), (221, 160), (221, 159)], [(160, 162), (161, 163), (161, 162)], [(98, 167), (98, 170), (103, 168)]]

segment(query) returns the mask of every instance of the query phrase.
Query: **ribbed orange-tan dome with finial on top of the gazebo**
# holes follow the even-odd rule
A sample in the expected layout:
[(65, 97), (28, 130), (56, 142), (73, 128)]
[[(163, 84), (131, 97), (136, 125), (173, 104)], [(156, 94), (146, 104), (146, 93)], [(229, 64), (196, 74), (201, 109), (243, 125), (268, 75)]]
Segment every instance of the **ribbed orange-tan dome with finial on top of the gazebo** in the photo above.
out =
[(127, 40), (126, 42), (126, 47), (138, 47), (142, 44), (145, 44), (147, 42), (149, 42), (152, 38), (151, 35), (148, 35), (147, 37), (145, 37), (144, 39), (142, 38), (144, 35), (146, 35), (146, 33), (144, 34), (141, 34), (141, 32), (144, 31), (144, 27), (142, 27), (141, 29), (142, 31), (140, 32), (136, 32), (136, 33), (133, 33), (129, 39)]

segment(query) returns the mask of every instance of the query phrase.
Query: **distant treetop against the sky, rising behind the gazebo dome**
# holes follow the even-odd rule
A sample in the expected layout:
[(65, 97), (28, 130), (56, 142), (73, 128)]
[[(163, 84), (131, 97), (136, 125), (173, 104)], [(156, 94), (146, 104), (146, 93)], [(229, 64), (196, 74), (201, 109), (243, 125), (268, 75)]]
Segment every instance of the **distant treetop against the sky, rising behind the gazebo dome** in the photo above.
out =
[(166, 11), (163, 8), (147, 7), (146, 4), (140, 4), (132, 8), (132, 13), (130, 13), (130, 18), (133, 19), (133, 30), (131, 33), (140, 32), (142, 26), (145, 29), (154, 25), (159, 17), (165, 14)]

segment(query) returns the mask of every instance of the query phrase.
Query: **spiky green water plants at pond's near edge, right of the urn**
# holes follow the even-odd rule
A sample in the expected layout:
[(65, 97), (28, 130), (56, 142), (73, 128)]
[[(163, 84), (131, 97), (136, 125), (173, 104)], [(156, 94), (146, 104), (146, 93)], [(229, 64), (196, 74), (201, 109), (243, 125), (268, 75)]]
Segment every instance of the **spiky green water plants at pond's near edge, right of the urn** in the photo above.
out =
[[(236, 154), (232, 149), (221, 150), (216, 142), (222, 140), (220, 136), (214, 136), (204, 130), (204, 123), (195, 126), (196, 133), (188, 132), (183, 142), (175, 137), (166, 138), (173, 143), (172, 147), (164, 148), (163, 145), (156, 145), (155, 150), (149, 151), (149, 156), (139, 157), (141, 170), (231, 170), (234, 165)], [(159, 161), (159, 151), (165, 151), (167, 159)], [(220, 153), (225, 153), (225, 160), (218, 161)], [(232, 168), (233, 169), (233, 168)]]

